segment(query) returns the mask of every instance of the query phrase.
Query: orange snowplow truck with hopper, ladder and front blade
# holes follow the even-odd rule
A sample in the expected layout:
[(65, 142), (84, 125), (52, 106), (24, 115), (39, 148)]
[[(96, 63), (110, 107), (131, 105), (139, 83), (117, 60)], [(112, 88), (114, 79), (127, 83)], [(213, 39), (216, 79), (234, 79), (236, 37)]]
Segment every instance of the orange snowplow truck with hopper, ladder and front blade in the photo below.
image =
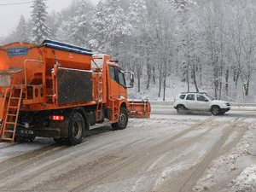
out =
[[(126, 75), (125, 75), (126, 74)], [(147, 118), (148, 101), (127, 99), (123, 72), (109, 55), (44, 40), (0, 47), (0, 141), (82, 143), (91, 125), (125, 129), (129, 115)]]

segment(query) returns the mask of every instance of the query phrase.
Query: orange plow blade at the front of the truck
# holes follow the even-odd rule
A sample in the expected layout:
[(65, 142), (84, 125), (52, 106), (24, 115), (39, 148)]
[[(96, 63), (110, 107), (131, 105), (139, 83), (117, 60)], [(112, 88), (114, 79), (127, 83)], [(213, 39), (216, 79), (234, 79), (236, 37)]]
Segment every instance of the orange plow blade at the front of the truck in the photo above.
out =
[(130, 108), (128, 108), (128, 113), (130, 118), (150, 118), (151, 107), (147, 100), (142, 101), (129, 101)]

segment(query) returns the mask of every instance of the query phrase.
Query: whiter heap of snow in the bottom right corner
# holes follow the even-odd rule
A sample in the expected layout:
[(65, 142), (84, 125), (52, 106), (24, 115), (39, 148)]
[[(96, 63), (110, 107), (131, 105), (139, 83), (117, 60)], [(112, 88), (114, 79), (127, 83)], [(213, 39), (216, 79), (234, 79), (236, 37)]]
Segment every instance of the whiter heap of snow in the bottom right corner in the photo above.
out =
[(256, 191), (256, 165), (247, 167), (230, 185), (236, 192)]

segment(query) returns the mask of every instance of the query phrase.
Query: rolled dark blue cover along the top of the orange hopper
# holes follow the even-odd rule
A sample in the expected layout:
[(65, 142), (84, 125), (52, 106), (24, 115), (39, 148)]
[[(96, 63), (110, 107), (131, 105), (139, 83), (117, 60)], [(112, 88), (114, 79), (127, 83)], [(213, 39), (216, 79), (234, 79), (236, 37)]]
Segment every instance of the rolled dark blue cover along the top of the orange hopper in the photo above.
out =
[(83, 54), (83, 55), (93, 55), (91, 49), (79, 47), (73, 44), (65, 44), (61, 43), (58, 41), (53, 41), (53, 40), (44, 40), (42, 43), (45, 47), (52, 48), (52, 49), (58, 49), (58, 50), (63, 50), (63, 51), (68, 51), (72, 53), (77, 53), (77, 54)]

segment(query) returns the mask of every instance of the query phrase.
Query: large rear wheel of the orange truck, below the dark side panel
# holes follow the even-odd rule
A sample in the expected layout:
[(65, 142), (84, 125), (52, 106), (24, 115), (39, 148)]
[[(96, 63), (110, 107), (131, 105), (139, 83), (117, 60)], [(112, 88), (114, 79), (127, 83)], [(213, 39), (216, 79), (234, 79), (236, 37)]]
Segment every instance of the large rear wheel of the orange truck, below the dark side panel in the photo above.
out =
[(84, 118), (81, 113), (74, 112), (69, 120), (68, 139), (67, 142), (71, 145), (80, 144), (84, 137)]

